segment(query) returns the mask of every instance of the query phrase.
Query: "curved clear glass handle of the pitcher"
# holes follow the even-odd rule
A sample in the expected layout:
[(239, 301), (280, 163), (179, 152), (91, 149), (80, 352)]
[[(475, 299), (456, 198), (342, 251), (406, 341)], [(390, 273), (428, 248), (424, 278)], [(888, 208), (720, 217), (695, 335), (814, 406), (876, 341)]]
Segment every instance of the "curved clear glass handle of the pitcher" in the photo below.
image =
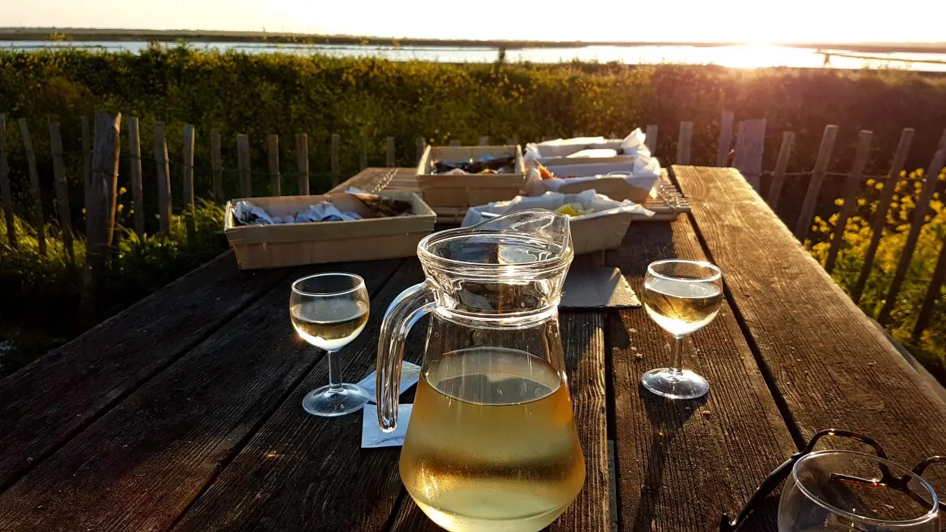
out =
[(413, 324), (436, 306), (433, 288), (426, 282), (417, 283), (394, 298), (384, 313), (377, 339), (377, 424), (383, 432), (392, 432), (397, 426), (404, 340)]

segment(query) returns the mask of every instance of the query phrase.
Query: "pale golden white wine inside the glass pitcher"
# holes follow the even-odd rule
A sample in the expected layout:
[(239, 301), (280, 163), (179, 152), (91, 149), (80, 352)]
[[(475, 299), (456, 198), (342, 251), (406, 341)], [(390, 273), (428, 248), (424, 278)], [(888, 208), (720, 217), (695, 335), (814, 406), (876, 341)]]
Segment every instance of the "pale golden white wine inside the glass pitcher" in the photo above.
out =
[(528, 352), (445, 353), (418, 384), (400, 472), (447, 530), (540, 530), (585, 482), (568, 387)]

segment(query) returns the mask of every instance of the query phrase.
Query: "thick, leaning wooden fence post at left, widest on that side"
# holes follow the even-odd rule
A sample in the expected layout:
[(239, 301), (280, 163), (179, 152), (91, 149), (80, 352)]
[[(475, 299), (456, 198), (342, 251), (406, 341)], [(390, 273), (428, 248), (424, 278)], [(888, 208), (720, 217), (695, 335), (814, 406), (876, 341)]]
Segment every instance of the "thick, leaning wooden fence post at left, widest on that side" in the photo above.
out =
[(95, 314), (96, 288), (104, 275), (114, 231), (114, 197), (118, 180), (119, 129), (121, 113), (96, 113), (89, 198), (85, 204), (86, 247), (82, 275), (82, 315), (92, 319)]

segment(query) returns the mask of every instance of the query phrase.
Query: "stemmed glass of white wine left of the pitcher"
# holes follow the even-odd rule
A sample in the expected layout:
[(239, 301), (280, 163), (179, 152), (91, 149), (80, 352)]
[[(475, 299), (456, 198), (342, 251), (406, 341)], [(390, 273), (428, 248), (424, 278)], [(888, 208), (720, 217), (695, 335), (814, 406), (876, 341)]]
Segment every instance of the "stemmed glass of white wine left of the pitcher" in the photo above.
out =
[(328, 353), (328, 385), (308, 392), (302, 401), (309, 414), (343, 416), (368, 402), (361, 386), (342, 383), (338, 354), (364, 329), (368, 310), (368, 289), (358, 275), (319, 273), (292, 283), (292, 327), (308, 343)]

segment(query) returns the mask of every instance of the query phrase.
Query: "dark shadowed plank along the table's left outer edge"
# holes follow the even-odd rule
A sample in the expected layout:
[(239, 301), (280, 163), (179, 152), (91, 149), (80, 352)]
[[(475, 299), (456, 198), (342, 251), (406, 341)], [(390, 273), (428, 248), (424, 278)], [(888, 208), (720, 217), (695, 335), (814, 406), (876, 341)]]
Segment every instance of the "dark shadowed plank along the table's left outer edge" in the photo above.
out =
[(0, 489), (286, 275), (228, 251), (0, 381)]

